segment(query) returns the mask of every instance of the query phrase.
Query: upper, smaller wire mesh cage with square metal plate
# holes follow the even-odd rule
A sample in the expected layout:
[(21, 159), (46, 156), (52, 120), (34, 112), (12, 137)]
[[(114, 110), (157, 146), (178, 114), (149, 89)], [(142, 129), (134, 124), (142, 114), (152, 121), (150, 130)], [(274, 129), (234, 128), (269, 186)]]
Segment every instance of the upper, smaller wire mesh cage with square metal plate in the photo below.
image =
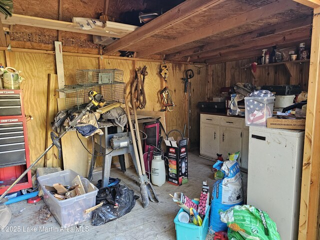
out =
[(123, 82), (123, 71), (120, 69), (78, 69), (76, 83), (82, 86)]

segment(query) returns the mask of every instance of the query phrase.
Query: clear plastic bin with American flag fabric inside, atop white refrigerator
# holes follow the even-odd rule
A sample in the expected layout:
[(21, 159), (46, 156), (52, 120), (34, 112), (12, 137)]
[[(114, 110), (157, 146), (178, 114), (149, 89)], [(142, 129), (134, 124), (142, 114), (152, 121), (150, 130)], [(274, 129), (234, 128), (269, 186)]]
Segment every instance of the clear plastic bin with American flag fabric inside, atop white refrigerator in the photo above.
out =
[(266, 118), (272, 116), (274, 96), (244, 97), (245, 104), (245, 125), (266, 126)]

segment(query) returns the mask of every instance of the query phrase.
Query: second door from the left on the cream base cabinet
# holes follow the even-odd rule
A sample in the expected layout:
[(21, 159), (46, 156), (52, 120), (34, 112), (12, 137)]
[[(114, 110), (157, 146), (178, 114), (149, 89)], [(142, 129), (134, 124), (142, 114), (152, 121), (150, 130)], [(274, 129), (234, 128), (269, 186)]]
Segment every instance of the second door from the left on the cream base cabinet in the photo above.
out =
[(241, 149), (241, 128), (220, 126), (220, 154), (225, 160), (229, 153)]

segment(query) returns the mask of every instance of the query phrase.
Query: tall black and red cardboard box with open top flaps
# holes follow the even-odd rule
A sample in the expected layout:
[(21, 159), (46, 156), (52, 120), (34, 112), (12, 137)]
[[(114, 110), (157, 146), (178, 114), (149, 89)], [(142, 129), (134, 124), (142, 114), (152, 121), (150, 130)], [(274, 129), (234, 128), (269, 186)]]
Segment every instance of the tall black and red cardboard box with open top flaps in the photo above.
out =
[(166, 145), (166, 156), (169, 160), (167, 181), (177, 186), (188, 182), (188, 138), (182, 138), (178, 143), (173, 138), (164, 140), (164, 142)]

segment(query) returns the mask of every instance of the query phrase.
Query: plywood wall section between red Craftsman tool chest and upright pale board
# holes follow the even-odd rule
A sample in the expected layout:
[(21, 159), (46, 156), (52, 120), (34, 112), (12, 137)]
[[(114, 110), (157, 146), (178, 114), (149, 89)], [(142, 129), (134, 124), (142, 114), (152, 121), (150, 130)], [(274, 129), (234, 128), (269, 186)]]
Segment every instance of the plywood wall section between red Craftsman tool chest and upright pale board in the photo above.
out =
[[(26, 115), (33, 120), (27, 122), (27, 134), (32, 163), (45, 149), (46, 101), (48, 73), (55, 72), (54, 56), (40, 53), (13, 52), (12, 67), (21, 71), (25, 79), (21, 83)], [(36, 166), (42, 167), (44, 158)]]

